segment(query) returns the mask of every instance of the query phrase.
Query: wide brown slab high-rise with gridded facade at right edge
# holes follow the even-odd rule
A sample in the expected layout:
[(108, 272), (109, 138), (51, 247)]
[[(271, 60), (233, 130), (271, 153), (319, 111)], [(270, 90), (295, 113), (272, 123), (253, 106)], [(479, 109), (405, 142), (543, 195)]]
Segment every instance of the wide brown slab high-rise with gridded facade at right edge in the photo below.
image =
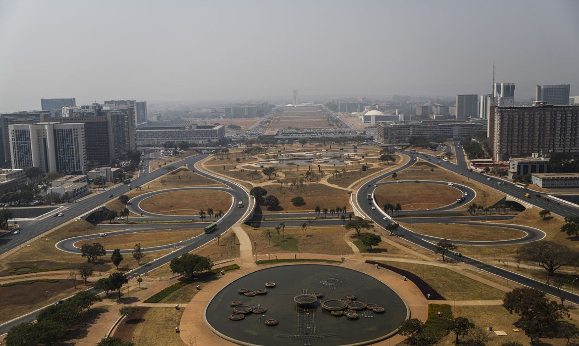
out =
[(579, 154), (579, 105), (492, 107), (489, 126), (495, 161), (533, 153)]

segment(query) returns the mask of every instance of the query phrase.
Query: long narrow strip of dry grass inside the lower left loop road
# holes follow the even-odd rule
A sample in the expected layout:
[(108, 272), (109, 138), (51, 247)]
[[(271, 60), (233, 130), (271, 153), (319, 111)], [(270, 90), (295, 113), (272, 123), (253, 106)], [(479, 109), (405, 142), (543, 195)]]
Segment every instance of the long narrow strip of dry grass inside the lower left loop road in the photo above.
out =
[(100, 242), (106, 249), (132, 249), (135, 244), (141, 243), (142, 248), (149, 248), (156, 245), (173, 244), (175, 242), (185, 241), (201, 233), (203, 233), (203, 230), (187, 229), (109, 235), (108, 237), (97, 236), (93, 239), (78, 242), (75, 246), (80, 246), (85, 242)]

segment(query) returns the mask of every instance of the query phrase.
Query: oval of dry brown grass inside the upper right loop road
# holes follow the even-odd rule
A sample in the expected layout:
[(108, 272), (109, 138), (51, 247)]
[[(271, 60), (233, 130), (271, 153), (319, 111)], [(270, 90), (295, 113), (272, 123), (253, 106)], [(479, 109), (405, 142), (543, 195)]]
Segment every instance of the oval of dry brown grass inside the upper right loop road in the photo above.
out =
[(376, 203), (400, 203), (402, 210), (424, 210), (456, 203), (463, 194), (452, 186), (429, 183), (401, 183), (379, 186), (374, 192)]

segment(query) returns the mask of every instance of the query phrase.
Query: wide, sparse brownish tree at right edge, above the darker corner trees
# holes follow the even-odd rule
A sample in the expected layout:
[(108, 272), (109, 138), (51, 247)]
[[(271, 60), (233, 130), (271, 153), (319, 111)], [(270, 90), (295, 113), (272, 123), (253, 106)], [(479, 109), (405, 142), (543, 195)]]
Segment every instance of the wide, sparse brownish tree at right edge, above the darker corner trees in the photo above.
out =
[(527, 243), (519, 249), (519, 259), (536, 262), (538, 266), (547, 270), (549, 277), (562, 266), (577, 263), (577, 252), (562, 244), (552, 241), (535, 241)]

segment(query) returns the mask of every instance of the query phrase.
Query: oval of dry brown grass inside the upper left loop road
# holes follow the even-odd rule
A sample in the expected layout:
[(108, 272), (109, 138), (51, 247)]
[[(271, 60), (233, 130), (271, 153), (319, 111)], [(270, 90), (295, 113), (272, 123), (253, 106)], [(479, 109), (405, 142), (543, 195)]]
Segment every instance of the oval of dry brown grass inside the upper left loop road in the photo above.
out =
[[(185, 190), (157, 194), (145, 198), (140, 207), (148, 212), (163, 215), (197, 215), (201, 209), (213, 208), (226, 212), (232, 203), (229, 193), (216, 190)], [(208, 216), (208, 215), (207, 215)]]

